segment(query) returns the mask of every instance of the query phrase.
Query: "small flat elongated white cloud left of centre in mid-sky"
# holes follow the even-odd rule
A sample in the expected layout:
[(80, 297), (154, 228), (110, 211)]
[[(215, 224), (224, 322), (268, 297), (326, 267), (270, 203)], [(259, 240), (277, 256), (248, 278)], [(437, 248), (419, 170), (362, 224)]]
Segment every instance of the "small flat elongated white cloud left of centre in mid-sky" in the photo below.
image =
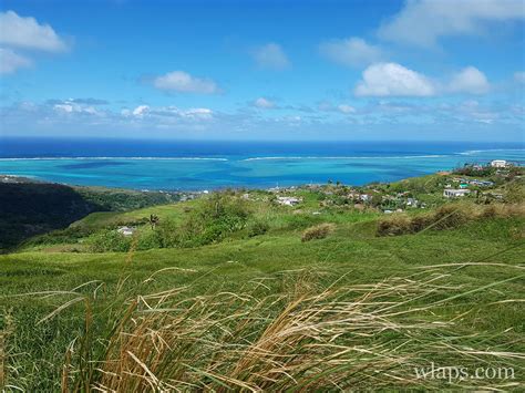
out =
[(214, 81), (195, 77), (184, 71), (173, 71), (165, 75), (157, 76), (153, 81), (153, 85), (158, 90), (179, 93), (214, 94), (219, 92)]

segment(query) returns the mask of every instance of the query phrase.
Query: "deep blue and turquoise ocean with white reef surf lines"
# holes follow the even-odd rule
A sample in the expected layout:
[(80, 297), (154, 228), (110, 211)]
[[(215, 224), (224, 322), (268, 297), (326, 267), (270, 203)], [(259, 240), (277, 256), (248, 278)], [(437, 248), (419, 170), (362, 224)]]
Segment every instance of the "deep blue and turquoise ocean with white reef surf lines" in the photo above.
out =
[(187, 142), (0, 137), (0, 174), (133, 189), (362, 185), (508, 159), (524, 143)]

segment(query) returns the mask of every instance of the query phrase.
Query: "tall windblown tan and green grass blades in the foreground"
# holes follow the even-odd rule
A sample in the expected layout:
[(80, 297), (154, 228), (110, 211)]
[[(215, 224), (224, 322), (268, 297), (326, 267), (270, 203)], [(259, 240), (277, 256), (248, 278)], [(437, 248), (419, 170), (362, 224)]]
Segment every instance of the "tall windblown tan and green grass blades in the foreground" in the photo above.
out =
[(66, 352), (62, 391), (421, 390), (443, 383), (416, 378), (413, 368), (430, 361), (524, 360), (483, 340), (476, 348), (475, 334), (454, 331), (457, 316), (439, 317), (447, 302), (486, 289), (446, 280), (425, 270), (372, 285), (295, 280), (282, 294), (260, 291), (264, 281), (198, 297), (177, 288), (127, 299), (105, 338), (92, 333), (90, 308), (85, 333)]

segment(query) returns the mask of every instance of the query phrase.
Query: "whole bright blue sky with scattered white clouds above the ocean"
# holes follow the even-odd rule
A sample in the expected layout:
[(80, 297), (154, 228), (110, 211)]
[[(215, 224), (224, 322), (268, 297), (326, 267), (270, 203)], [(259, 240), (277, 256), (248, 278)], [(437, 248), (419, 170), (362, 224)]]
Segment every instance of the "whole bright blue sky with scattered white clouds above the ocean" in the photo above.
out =
[(525, 0), (2, 0), (0, 136), (525, 135)]

